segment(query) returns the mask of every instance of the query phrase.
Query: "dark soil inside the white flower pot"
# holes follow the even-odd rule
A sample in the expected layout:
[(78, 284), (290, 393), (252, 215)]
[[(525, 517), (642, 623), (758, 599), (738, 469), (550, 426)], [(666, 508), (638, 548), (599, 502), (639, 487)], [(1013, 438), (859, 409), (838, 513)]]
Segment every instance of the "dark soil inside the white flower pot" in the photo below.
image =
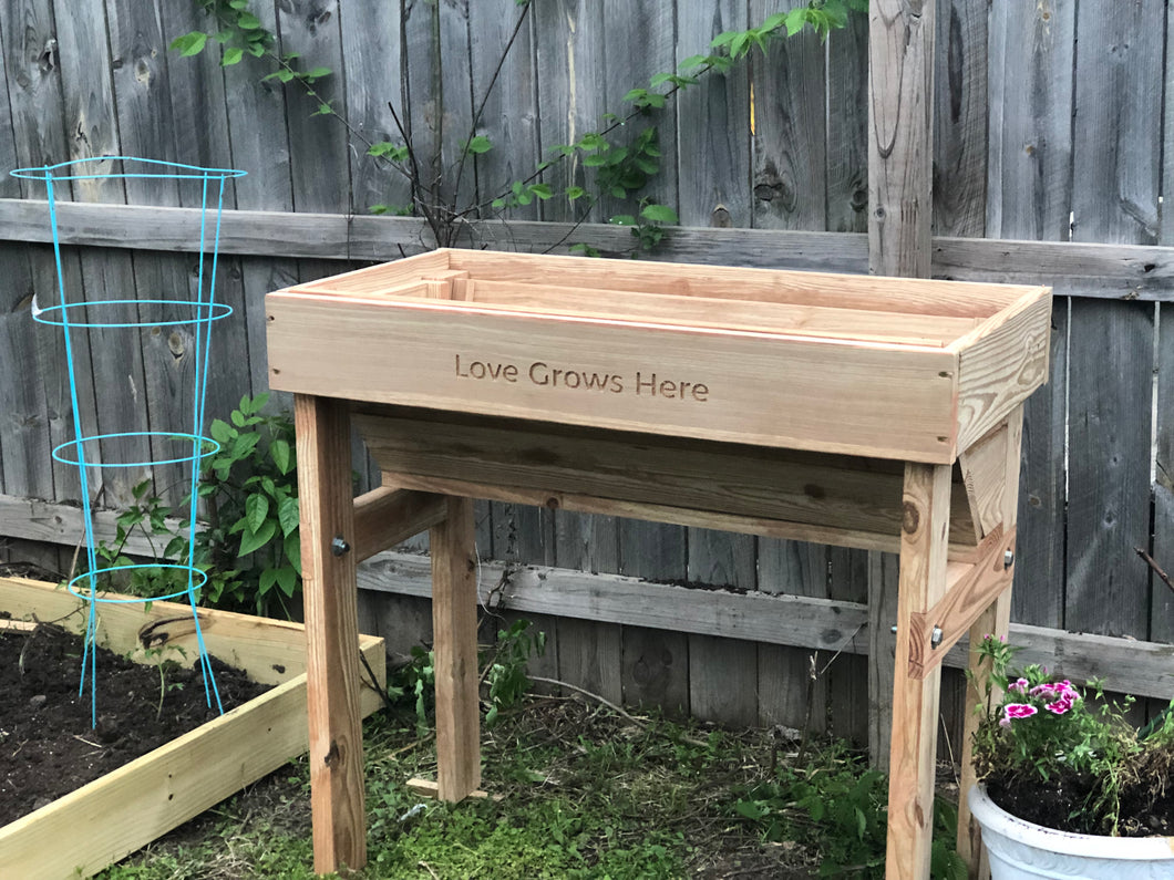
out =
[[(1160, 772), (1142, 772), (1136, 784), (1121, 792), (1121, 837), (1174, 834), (1174, 753)], [(1149, 769), (1155, 771), (1156, 769)], [(1038, 780), (1006, 780), (997, 776), (985, 780), (991, 800), (1012, 815), (1047, 828), (1075, 834), (1107, 834), (1089, 805), (1097, 799), (1097, 780), (1079, 774)]]

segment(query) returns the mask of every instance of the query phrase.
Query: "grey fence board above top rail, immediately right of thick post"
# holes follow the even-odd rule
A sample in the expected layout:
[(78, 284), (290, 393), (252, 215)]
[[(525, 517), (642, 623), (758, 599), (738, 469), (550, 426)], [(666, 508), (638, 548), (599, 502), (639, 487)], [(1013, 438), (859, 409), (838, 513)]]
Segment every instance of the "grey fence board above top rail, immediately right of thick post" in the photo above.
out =
[(938, 0), (933, 52), (933, 222), (938, 235), (981, 236), (986, 221), (985, 0)]

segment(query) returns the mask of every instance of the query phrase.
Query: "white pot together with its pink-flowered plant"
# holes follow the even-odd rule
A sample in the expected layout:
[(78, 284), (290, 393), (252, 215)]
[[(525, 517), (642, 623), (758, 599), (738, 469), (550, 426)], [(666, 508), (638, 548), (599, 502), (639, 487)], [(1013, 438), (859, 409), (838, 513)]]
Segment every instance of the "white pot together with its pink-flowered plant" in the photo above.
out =
[(979, 691), (1001, 690), (979, 708), (969, 794), (993, 880), (1174, 878), (1174, 700), (1138, 730), (1132, 698), (1045, 666), (1008, 672), (1017, 649), (999, 639), (978, 650), (991, 663)]

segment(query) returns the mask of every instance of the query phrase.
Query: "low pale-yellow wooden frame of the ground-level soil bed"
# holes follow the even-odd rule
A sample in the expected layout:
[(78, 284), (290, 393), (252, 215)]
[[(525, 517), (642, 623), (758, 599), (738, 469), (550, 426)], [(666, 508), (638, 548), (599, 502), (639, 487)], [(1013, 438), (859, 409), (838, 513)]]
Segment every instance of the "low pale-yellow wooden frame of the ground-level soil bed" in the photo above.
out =
[[(79, 600), (53, 584), (0, 578), (0, 610), (14, 618), (59, 621)], [(198, 656), (187, 605), (103, 605), (100, 642), (114, 651), (183, 648)], [(275, 686), (40, 810), (0, 828), (0, 874), (21, 880), (89, 876), (256, 781), (306, 750), (305, 634), (299, 624), (201, 609), (209, 652)], [(81, 614), (61, 620), (81, 631)], [(383, 639), (360, 636), (364, 656), (385, 684)], [(167, 654), (163, 655), (167, 657)], [(363, 713), (383, 705), (363, 689)]]

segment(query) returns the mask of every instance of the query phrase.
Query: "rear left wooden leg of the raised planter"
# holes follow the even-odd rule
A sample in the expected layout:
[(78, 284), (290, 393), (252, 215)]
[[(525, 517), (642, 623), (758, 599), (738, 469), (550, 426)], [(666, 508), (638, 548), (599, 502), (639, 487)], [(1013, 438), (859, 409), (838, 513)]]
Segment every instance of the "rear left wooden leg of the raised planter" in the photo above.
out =
[(473, 501), (447, 497), (447, 516), (433, 526), (432, 628), (437, 681), (437, 784), (441, 800), (458, 801), (481, 784), (477, 699), (477, 550)]

